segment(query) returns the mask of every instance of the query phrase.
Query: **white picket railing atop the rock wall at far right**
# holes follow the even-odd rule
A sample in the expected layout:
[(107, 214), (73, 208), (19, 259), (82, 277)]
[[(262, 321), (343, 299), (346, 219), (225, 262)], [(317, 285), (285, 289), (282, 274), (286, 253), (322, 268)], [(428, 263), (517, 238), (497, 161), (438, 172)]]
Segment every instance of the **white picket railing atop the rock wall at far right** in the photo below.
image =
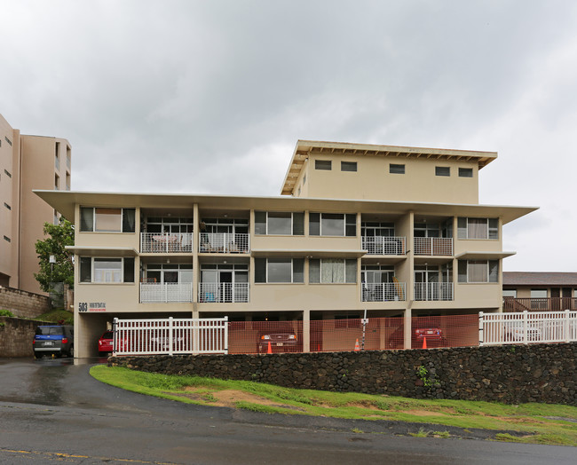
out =
[(479, 345), (577, 342), (577, 311), (478, 314)]

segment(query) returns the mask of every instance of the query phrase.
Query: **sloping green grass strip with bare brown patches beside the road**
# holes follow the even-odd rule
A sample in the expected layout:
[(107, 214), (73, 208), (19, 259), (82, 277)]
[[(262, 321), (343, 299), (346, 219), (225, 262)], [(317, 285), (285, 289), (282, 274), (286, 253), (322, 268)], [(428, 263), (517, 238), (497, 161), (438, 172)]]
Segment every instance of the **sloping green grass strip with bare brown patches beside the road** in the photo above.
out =
[[(508, 406), (467, 400), (421, 400), (392, 396), (281, 388), (262, 382), (151, 374), (123, 367), (93, 366), (100, 382), (148, 396), (205, 406), (230, 406), (268, 414), (299, 414), (360, 420), (422, 422), (463, 429), (510, 430), (502, 441), (577, 445), (577, 407), (551, 404)], [(360, 431), (359, 431), (360, 432)], [(450, 437), (423, 430), (414, 436)]]

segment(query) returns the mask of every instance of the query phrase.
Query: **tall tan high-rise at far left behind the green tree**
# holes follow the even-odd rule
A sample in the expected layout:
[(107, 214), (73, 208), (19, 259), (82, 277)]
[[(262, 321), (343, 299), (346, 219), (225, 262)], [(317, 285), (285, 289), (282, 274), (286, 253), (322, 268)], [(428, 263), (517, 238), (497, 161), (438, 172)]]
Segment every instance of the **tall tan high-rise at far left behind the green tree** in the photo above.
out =
[(0, 286), (41, 294), (35, 243), (58, 213), (33, 189), (70, 190), (70, 144), (26, 136), (0, 114)]

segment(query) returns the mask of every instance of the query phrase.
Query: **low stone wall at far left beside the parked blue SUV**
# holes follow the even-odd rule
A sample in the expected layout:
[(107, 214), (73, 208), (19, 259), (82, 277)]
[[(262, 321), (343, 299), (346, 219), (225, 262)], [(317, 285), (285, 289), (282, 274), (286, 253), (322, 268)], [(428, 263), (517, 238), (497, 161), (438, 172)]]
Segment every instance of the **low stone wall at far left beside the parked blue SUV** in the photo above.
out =
[(0, 317), (0, 357), (34, 357), (32, 341), (36, 327), (43, 324), (35, 319)]

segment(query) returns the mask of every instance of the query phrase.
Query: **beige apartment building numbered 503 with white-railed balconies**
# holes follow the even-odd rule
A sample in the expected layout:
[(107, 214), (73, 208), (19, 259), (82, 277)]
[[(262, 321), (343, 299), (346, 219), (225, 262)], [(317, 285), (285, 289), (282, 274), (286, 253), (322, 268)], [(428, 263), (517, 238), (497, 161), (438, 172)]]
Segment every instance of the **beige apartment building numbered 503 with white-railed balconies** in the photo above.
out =
[[(115, 317), (315, 319), (502, 310), (497, 154), (298, 141), (281, 197), (36, 192), (75, 221), (76, 356)], [(405, 341), (410, 344), (410, 327)]]

